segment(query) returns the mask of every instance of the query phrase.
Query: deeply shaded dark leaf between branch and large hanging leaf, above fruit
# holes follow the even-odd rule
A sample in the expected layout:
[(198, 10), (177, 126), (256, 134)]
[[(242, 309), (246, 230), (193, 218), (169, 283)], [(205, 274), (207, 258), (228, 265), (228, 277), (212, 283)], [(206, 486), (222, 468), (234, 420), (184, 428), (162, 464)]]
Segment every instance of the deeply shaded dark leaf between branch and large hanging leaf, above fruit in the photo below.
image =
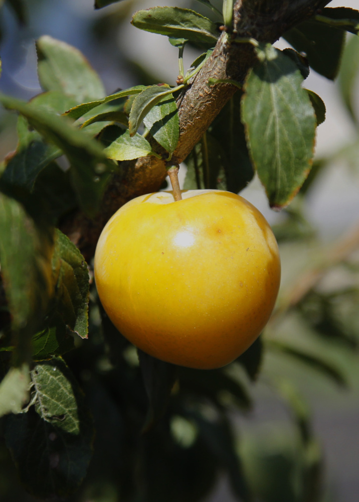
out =
[(244, 127), (241, 122), (241, 96), (237, 92), (215, 118), (210, 131), (223, 149), (223, 169), (227, 190), (238, 193), (253, 178)]

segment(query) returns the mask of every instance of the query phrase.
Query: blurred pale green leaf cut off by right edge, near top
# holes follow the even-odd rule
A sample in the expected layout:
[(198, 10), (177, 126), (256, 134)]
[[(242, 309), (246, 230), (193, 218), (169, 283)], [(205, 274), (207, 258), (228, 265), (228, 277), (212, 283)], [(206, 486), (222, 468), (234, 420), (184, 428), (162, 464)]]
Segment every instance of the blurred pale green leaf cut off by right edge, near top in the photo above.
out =
[(338, 83), (341, 97), (354, 122), (357, 122), (354, 107), (354, 92), (358, 72), (359, 38), (351, 37), (343, 52)]

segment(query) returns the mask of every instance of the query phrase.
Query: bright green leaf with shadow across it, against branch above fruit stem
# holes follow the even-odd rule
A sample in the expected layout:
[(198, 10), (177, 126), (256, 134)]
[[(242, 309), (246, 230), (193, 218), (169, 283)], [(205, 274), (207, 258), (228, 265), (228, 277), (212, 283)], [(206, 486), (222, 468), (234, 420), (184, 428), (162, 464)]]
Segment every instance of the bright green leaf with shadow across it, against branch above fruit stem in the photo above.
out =
[(149, 110), (143, 123), (157, 143), (172, 154), (180, 137), (180, 124), (174, 98), (164, 97)]

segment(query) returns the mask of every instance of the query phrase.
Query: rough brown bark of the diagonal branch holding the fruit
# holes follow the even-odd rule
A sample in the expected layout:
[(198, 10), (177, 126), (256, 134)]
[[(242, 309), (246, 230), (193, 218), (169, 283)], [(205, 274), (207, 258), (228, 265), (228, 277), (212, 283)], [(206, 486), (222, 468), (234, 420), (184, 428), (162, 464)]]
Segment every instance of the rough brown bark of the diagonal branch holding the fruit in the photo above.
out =
[[(212, 56), (190, 85), (177, 99), (180, 118), (180, 141), (173, 160), (180, 164), (201, 139), (213, 119), (236, 92), (232, 84), (216, 84), (211, 88), (209, 77), (243, 82), (255, 63), (250, 44), (236, 43), (236, 37), (250, 37), (259, 42), (274, 43), (294, 25), (319, 14), (330, 0), (237, 0), (234, 7), (233, 33), (223, 32)], [(233, 42), (233, 43), (232, 43)], [(62, 225), (89, 260), (99, 234), (108, 218), (133, 197), (158, 190), (166, 176), (165, 162), (143, 157), (122, 162), (120, 174), (113, 176), (95, 220), (76, 214)]]

